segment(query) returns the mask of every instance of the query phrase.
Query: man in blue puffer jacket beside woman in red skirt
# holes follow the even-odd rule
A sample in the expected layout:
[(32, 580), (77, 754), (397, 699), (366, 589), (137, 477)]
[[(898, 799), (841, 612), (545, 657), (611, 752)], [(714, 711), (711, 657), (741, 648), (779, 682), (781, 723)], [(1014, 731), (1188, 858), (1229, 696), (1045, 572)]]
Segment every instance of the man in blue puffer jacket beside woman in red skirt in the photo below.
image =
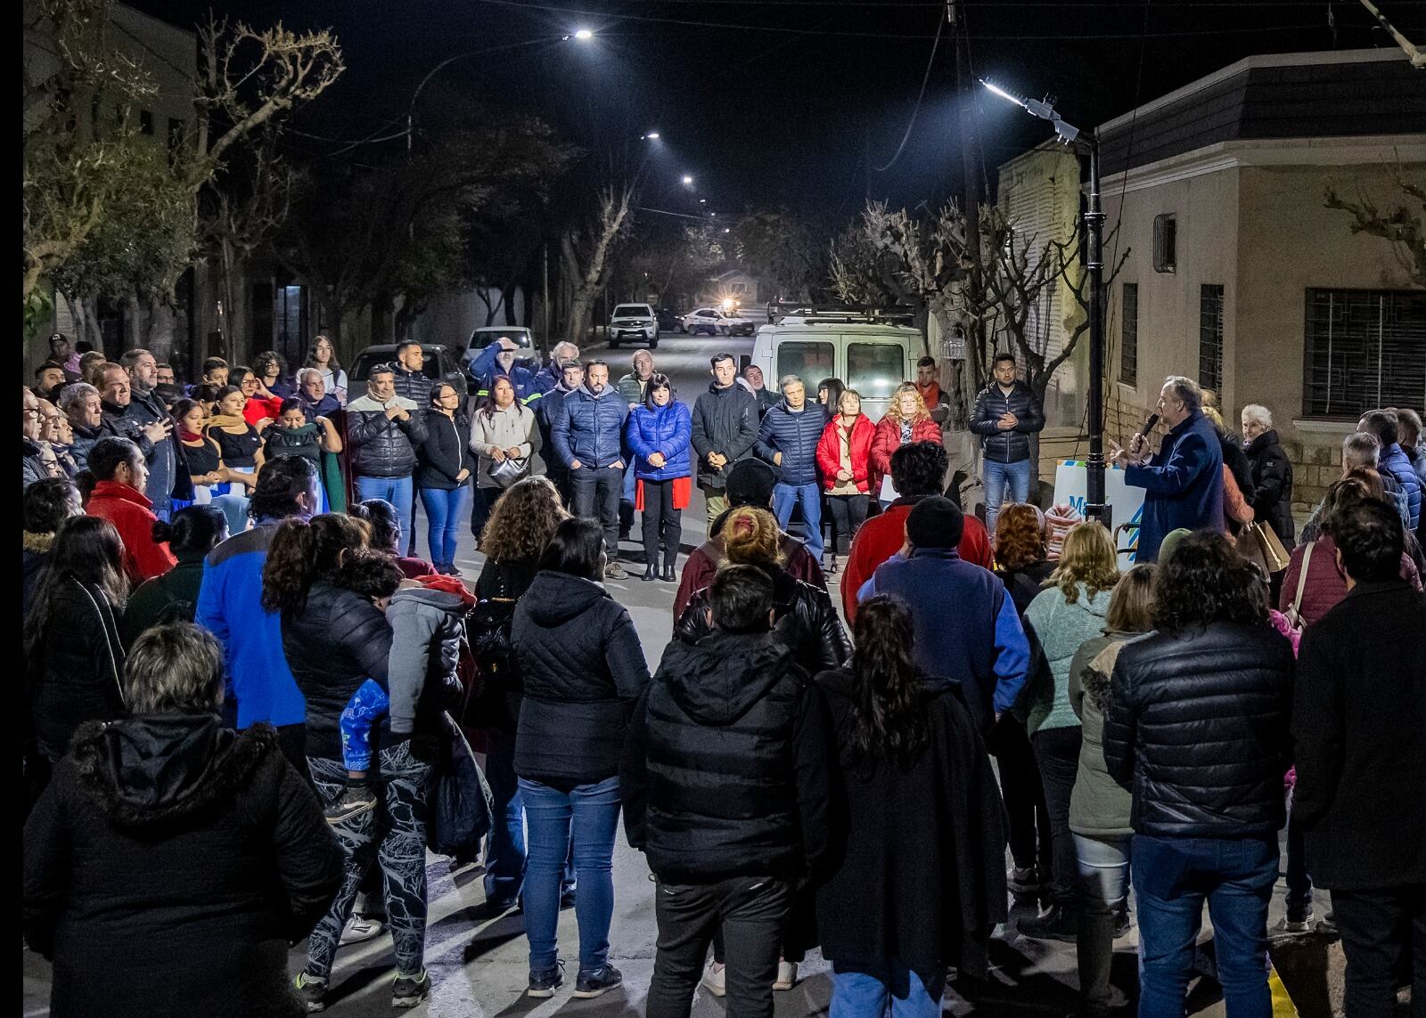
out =
[(605, 528), (605, 576), (625, 579), (619, 566), (619, 493), (623, 490), (623, 425), (629, 405), (609, 385), (609, 365), (585, 365), (585, 384), (565, 396), (553, 416), (555, 455), (569, 469), (573, 510)]

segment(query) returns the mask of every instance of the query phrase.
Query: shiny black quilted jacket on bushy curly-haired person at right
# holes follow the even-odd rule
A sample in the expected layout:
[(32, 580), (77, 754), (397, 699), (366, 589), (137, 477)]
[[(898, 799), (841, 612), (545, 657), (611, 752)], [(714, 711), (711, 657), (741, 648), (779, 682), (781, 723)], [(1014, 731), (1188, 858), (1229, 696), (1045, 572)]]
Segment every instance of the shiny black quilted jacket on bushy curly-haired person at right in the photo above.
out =
[(1134, 793), (1135, 833), (1243, 838), (1282, 827), (1292, 670), (1292, 646), (1266, 624), (1215, 622), (1124, 646), (1104, 761)]

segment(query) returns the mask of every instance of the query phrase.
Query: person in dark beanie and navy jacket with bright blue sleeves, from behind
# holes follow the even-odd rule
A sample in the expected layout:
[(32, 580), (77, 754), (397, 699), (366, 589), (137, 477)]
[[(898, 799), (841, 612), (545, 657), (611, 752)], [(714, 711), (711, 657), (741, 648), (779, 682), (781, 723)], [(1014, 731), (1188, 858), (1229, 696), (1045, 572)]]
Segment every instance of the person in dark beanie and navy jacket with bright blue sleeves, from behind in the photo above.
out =
[(911, 609), (915, 663), (933, 680), (960, 686), (981, 731), (1015, 706), (1030, 673), (1030, 640), (1015, 602), (995, 573), (957, 550), (965, 518), (955, 503), (927, 495), (906, 518), (910, 555), (883, 562), (857, 602), (896, 595)]

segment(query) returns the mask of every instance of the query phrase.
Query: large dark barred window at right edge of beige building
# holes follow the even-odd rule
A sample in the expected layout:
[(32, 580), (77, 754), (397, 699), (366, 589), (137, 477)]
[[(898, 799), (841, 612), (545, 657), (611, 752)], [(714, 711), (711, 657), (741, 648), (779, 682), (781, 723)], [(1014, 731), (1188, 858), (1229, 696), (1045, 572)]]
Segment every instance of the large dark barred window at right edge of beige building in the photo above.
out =
[(1308, 289), (1302, 412), (1426, 405), (1426, 292)]

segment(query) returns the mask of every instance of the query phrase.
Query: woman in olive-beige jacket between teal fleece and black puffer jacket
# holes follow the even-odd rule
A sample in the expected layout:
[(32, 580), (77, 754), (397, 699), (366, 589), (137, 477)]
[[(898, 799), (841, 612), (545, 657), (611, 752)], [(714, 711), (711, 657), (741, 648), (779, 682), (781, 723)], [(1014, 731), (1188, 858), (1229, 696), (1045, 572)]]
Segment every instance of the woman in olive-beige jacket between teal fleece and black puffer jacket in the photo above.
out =
[[(1070, 831), (1079, 864), (1079, 1014), (1109, 1014), (1109, 968), (1115, 928), (1128, 925), (1129, 900), (1129, 793), (1104, 766), (1104, 716), (1108, 713), (1109, 676), (1128, 640), (1154, 629), (1154, 570), (1144, 562), (1121, 579), (1109, 599), (1104, 632), (1079, 644), (1070, 664), (1070, 706), (1079, 717), (1084, 737), (1079, 768), (1070, 796)], [(1121, 917), (1125, 917), (1121, 920)]]

